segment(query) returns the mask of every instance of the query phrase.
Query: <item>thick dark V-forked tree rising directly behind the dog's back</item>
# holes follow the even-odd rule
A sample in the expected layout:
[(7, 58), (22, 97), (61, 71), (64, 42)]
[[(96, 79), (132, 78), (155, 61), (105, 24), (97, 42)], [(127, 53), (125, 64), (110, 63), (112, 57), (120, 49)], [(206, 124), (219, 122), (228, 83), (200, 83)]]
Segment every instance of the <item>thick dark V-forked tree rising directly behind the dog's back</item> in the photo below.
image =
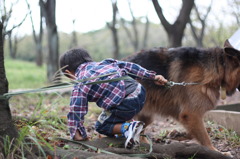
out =
[(170, 24), (163, 15), (163, 11), (158, 3), (158, 0), (152, 0), (152, 2), (158, 17), (167, 32), (169, 47), (181, 46), (184, 30), (186, 28), (186, 24), (189, 22), (189, 16), (194, 5), (194, 0), (182, 0), (182, 8), (173, 24)]

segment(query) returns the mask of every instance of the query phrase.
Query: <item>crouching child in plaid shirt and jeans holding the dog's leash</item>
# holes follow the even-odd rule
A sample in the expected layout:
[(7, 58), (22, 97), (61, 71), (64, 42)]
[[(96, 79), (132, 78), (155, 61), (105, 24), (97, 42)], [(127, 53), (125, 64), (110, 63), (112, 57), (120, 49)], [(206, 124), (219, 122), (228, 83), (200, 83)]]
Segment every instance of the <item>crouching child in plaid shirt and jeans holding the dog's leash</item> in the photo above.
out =
[(93, 81), (116, 79), (127, 76), (128, 72), (149, 79), (155, 79), (158, 85), (164, 85), (167, 80), (148, 71), (143, 67), (124, 61), (106, 59), (93, 62), (88, 52), (82, 48), (67, 51), (60, 57), (62, 72), (74, 80), (86, 80), (74, 85), (70, 112), (68, 113), (68, 127), (73, 140), (86, 140), (87, 134), (83, 126), (84, 116), (88, 112), (88, 102), (96, 102), (103, 108), (103, 112), (96, 122), (96, 131), (107, 136), (122, 134), (126, 137), (125, 148), (132, 148), (139, 144), (139, 135), (144, 123), (131, 120), (143, 107), (145, 89), (138, 83), (136, 77), (108, 83), (84, 85)]

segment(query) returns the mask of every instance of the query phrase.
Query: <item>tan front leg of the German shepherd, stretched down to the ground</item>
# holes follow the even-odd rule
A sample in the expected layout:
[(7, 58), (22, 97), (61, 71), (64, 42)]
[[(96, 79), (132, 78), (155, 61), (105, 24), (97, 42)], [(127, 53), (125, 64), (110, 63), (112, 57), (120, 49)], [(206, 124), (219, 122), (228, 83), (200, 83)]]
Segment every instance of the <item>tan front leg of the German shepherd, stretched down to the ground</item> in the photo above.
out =
[(201, 145), (217, 151), (213, 147), (203, 122), (203, 114), (185, 111), (179, 114), (179, 121)]

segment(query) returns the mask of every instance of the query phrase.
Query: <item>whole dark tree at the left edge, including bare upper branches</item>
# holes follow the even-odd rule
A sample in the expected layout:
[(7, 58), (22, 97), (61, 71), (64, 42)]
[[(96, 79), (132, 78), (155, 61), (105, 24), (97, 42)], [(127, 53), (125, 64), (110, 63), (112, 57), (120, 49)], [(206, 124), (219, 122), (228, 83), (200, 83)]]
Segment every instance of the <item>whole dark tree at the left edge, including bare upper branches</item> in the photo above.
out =
[[(3, 140), (7, 139), (7, 136), (10, 140), (18, 137), (17, 129), (12, 122), (9, 99), (3, 96), (5, 93), (8, 93), (8, 80), (4, 66), (4, 40), (6, 35), (11, 34), (14, 29), (22, 25), (27, 17), (27, 14), (19, 24), (14, 25), (11, 29), (7, 30), (7, 25), (11, 17), (12, 7), (14, 4), (12, 4), (10, 9), (7, 10), (5, 0), (0, 2), (0, 142), (3, 142)], [(0, 148), (0, 151), (2, 148), (3, 147)]]

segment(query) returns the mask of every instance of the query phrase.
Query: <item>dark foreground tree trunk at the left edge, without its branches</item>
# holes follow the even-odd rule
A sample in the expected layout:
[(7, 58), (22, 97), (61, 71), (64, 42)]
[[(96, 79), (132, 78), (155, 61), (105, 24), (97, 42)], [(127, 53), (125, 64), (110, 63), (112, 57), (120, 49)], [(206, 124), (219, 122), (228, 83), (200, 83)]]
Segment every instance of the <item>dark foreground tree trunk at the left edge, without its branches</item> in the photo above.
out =
[[(8, 81), (4, 67), (3, 23), (0, 21), (0, 96), (7, 92)], [(18, 133), (12, 122), (8, 99), (0, 98), (0, 117), (0, 142), (2, 142), (6, 136), (9, 136), (10, 139), (16, 138)]]

